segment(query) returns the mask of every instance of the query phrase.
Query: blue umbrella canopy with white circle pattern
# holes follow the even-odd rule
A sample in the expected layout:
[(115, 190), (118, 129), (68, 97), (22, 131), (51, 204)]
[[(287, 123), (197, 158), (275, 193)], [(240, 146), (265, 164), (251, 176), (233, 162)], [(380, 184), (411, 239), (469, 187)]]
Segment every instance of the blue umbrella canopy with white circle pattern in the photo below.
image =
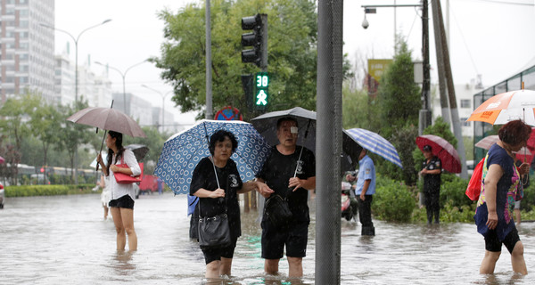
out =
[(163, 180), (175, 194), (189, 193), (193, 170), (201, 159), (210, 156), (210, 136), (218, 130), (235, 135), (238, 147), (232, 155), (243, 182), (259, 172), (268, 158), (268, 142), (250, 124), (243, 121), (202, 120), (191, 128), (174, 134), (163, 143), (154, 175)]

